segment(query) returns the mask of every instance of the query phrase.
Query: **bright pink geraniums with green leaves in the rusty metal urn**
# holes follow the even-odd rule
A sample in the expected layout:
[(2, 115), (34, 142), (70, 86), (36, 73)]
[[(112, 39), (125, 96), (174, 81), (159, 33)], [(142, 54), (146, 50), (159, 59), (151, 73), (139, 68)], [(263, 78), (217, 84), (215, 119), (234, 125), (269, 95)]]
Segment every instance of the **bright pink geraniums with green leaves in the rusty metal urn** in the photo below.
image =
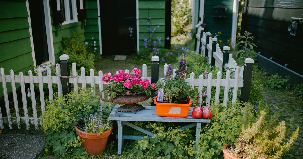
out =
[(117, 94), (131, 94), (131, 93), (145, 93), (146, 95), (151, 94), (151, 90), (155, 88), (155, 83), (150, 83), (148, 79), (142, 79), (139, 75), (141, 70), (134, 68), (129, 75), (123, 70), (119, 70), (118, 74), (113, 76), (104, 74), (102, 80), (105, 82), (110, 82), (107, 85), (109, 89), (108, 96), (110, 98), (115, 98)]

